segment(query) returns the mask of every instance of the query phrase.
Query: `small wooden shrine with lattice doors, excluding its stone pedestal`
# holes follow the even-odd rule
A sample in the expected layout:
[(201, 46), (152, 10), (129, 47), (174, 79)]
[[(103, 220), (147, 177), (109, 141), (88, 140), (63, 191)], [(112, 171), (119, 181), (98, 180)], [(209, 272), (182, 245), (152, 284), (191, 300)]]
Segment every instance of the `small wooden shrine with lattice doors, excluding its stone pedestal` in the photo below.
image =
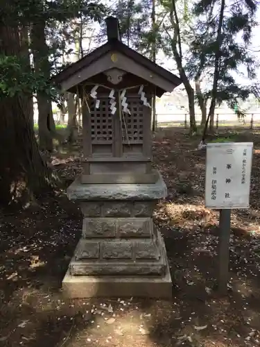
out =
[(107, 43), (55, 77), (83, 99), (82, 183), (155, 183), (151, 168), (151, 99), (172, 92), (180, 78), (125, 46), (116, 18)]

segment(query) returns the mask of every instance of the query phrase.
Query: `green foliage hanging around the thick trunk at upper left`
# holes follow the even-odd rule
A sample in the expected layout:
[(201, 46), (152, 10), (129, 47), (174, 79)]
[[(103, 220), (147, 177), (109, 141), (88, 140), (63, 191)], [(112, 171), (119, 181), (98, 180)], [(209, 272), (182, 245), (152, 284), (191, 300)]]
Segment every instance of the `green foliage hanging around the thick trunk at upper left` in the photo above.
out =
[[(67, 46), (72, 42), (73, 35), (70, 37), (71, 42), (67, 42), (66, 28), (70, 27), (72, 19), (101, 21), (105, 12), (105, 6), (98, 1), (0, 0), (1, 25), (14, 28), (25, 25), (29, 29), (33, 24), (42, 23), (49, 44), (46, 49), (43, 46), (42, 51), (38, 49), (36, 52), (40, 64), (37, 74), (28, 66), (28, 57), (6, 56), (0, 51), (0, 98), (40, 92), (60, 102), (62, 96), (48, 78), (50, 72), (56, 73), (61, 69), (60, 58), (64, 51), (70, 53)], [(28, 48), (32, 48), (30, 44)]]

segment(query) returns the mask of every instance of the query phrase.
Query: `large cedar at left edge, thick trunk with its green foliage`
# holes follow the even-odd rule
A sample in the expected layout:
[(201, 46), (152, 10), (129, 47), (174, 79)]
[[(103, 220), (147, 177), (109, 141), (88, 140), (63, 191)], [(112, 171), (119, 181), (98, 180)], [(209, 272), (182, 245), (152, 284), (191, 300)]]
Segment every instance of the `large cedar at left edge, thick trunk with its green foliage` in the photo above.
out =
[(70, 7), (67, 1), (64, 4), (44, 1), (45, 7), (42, 3), (0, 0), (0, 201), (5, 205), (23, 201), (24, 196), (28, 200), (32, 193), (42, 192), (49, 187), (51, 178), (40, 155), (31, 119), (32, 93), (49, 94), (51, 88), (44, 71), (34, 74), (28, 66), (21, 29), (28, 23), (33, 26), (42, 22), (46, 14), (50, 21), (60, 22), (78, 16), (79, 11), (81, 15), (98, 19), (103, 8), (96, 3), (88, 3), (88, 7), (83, 4), (80, 8), (78, 1), (71, 1)]

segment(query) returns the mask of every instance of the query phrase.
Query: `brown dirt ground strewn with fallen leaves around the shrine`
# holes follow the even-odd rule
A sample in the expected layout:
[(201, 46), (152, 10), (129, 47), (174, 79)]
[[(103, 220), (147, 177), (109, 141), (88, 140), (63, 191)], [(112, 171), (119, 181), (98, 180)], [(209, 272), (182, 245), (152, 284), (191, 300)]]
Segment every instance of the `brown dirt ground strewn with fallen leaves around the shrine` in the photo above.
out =
[[(260, 346), (260, 133), (240, 131), (237, 140), (254, 142), (251, 208), (232, 213), (228, 296), (216, 290), (218, 214), (203, 206), (205, 153), (196, 149), (198, 137), (164, 129), (155, 138), (154, 162), (169, 195), (155, 223), (166, 242), (173, 300), (62, 297), (81, 231), (80, 211), (64, 187), (43, 196), (41, 210), (0, 216), (0, 345)], [(80, 158), (56, 155), (53, 165), (67, 186)]]

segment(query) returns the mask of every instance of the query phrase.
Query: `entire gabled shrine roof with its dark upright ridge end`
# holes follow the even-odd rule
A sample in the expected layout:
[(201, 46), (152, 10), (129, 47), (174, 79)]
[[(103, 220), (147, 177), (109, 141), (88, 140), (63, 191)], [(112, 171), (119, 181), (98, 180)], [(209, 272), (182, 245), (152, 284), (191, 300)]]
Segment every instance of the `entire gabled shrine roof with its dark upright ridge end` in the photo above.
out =
[[(123, 65), (122, 60), (117, 63), (112, 60), (114, 67), (119, 67), (119, 69), (127, 71), (128, 74), (141, 77), (150, 84), (155, 85), (157, 87), (157, 94), (160, 96), (166, 91), (172, 91), (177, 85), (182, 83), (179, 77), (171, 74), (171, 72), (123, 44), (121, 42), (119, 20), (117, 18), (107, 17), (105, 22), (107, 25), (107, 43), (78, 60), (78, 62), (74, 62), (65, 68), (60, 74), (54, 76), (52, 81), (58, 85), (63, 84), (62, 87), (67, 84), (65, 89), (67, 88), (69, 90), (73, 85), (82, 83), (84, 78), (87, 81), (89, 78), (113, 69), (111, 62), (106, 61), (106, 56), (107, 53), (109, 54), (114, 51), (113, 53), (119, 53), (125, 57), (124, 61), (126, 64)], [(101, 65), (97, 67), (98, 60), (100, 60)], [(140, 67), (143, 67), (143, 69), (140, 69)], [(155, 75), (155, 79), (151, 81), (150, 78), (153, 78), (153, 75)]]

